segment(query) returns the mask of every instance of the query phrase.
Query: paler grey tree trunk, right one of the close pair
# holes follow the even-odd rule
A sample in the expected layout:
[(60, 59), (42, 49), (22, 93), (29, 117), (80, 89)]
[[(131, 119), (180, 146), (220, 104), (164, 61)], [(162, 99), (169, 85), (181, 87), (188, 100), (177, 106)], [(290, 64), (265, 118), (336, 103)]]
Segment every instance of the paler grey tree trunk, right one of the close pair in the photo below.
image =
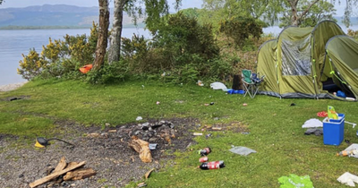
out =
[(113, 29), (109, 38), (108, 63), (119, 61), (121, 53), (121, 37), (123, 29), (124, 4), (128, 0), (115, 0), (115, 13), (113, 15)]

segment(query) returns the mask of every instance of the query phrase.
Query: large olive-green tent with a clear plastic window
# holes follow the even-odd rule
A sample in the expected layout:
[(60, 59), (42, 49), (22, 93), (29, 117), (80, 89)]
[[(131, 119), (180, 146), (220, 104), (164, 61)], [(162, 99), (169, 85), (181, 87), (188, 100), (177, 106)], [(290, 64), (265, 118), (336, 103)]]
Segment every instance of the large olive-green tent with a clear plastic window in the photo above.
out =
[[(353, 39), (343, 42), (343, 36), (344, 31), (333, 21), (282, 30), (277, 39), (259, 49), (257, 73), (265, 75), (259, 93), (279, 98), (337, 98), (332, 93), (341, 90), (357, 98), (358, 62), (350, 60), (358, 59), (358, 43)], [(341, 57), (343, 54), (349, 57)]]

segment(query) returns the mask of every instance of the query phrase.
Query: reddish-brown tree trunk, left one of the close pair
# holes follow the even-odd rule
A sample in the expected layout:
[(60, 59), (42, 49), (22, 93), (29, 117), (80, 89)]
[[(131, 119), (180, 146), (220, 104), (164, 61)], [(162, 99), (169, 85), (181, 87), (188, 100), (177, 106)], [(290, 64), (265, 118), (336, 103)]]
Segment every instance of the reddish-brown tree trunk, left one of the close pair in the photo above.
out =
[(98, 41), (96, 46), (96, 57), (93, 63), (93, 69), (98, 70), (105, 63), (108, 26), (109, 26), (109, 10), (108, 0), (98, 0), (99, 3), (99, 27)]

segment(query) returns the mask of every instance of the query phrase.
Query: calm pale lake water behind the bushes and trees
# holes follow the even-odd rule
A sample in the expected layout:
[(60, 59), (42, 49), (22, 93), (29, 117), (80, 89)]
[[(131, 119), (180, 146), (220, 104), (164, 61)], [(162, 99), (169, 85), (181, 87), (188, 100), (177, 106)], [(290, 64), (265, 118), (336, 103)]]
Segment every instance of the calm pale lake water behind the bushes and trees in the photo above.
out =
[[(132, 38), (133, 33), (149, 38), (149, 31), (136, 28), (125, 28), (124, 38)], [(76, 36), (90, 35), (90, 29), (81, 30), (0, 30), (0, 85), (26, 81), (17, 74), (21, 54), (27, 56), (30, 48), (40, 53), (42, 46), (48, 44), (48, 38), (62, 39), (66, 34)]]

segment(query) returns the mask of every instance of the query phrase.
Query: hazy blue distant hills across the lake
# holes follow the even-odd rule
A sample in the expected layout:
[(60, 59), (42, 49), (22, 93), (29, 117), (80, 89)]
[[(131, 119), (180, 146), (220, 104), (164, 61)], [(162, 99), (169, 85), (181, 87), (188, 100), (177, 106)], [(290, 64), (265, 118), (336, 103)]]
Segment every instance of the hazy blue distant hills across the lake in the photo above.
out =
[[(92, 21), (98, 22), (98, 14), (98, 7), (65, 4), (4, 8), (0, 9), (0, 29), (90, 28)], [(138, 22), (141, 23), (142, 20)], [(143, 24), (140, 26), (142, 27)], [(124, 27), (133, 27), (132, 18), (126, 14), (124, 14)]]

